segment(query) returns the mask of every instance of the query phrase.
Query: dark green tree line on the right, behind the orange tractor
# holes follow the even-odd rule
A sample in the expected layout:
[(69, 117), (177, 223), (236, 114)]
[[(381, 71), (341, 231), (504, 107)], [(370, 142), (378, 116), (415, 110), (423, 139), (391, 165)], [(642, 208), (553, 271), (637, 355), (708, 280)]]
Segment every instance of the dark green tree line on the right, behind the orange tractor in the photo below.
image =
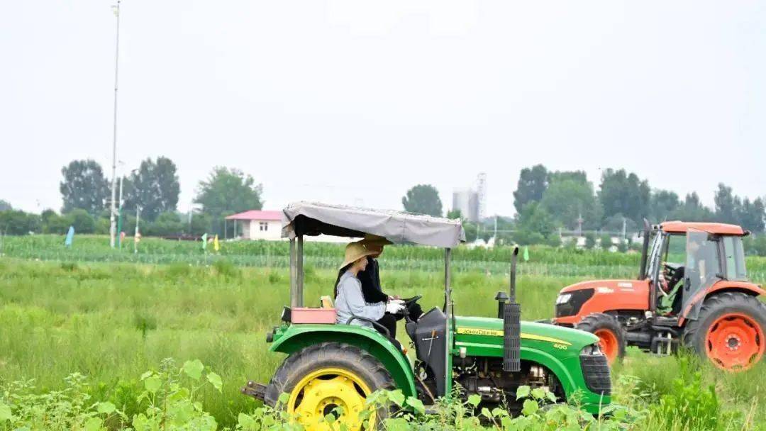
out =
[[(715, 191), (715, 207), (706, 207), (696, 192), (680, 198), (674, 191), (651, 188), (649, 181), (624, 169), (607, 168), (601, 175), (598, 188), (594, 188), (584, 171), (551, 171), (545, 165), (522, 169), (513, 204), (514, 217), (497, 217), (497, 239), (521, 244), (548, 243), (560, 245), (562, 230), (574, 230), (586, 237), (586, 247), (594, 247), (597, 240), (607, 243), (604, 232), (622, 232), (629, 235), (643, 227), (643, 219), (651, 223), (665, 220), (718, 221), (738, 224), (753, 233), (764, 233), (766, 209), (763, 198), (751, 200), (740, 197), (731, 187), (721, 183)], [(444, 215), (436, 188), (418, 184), (402, 198), (406, 211)], [(460, 217), (448, 211), (447, 217)], [(464, 222), (469, 241), (493, 235), (495, 220), (482, 220), (479, 224)], [(512, 233), (507, 233), (512, 231)], [(601, 237), (596, 232), (601, 231)], [(766, 240), (750, 239), (748, 243)], [(754, 245), (755, 247), (755, 245)], [(759, 252), (760, 253), (760, 252)]]

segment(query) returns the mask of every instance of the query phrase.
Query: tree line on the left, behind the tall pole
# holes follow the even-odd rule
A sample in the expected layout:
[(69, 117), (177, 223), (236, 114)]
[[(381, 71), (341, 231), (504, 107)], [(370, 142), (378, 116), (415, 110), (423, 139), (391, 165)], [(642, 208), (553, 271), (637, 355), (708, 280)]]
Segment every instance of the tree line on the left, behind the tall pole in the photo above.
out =
[[(72, 226), (77, 233), (109, 233), (111, 184), (101, 165), (90, 159), (73, 160), (61, 168), (61, 175), (60, 212), (47, 209), (32, 214), (0, 200), (0, 231), (11, 235), (66, 233)], [(137, 216), (143, 235), (224, 235), (223, 217), (263, 207), (261, 185), (234, 168), (216, 166), (208, 178), (198, 182), (194, 199), (198, 208), (193, 211), (178, 210), (181, 186), (170, 158), (146, 158), (121, 180), (122, 231), (127, 235), (135, 231)], [(117, 194), (119, 199), (119, 191)], [(231, 228), (229, 233), (233, 233)]]

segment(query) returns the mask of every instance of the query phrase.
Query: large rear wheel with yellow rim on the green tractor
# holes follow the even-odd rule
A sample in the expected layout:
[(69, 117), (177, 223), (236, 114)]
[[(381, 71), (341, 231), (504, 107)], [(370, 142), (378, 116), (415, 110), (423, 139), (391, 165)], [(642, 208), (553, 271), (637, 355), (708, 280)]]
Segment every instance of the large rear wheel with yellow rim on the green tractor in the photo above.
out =
[[(280, 408), (308, 431), (331, 429), (325, 416), (336, 416), (333, 427), (363, 429), (359, 413), (365, 398), (378, 389), (394, 389), (394, 380), (380, 361), (350, 344), (314, 344), (290, 354), (266, 388), (264, 403), (277, 406), (280, 394), (290, 397)], [(386, 415), (374, 412), (372, 423)]]

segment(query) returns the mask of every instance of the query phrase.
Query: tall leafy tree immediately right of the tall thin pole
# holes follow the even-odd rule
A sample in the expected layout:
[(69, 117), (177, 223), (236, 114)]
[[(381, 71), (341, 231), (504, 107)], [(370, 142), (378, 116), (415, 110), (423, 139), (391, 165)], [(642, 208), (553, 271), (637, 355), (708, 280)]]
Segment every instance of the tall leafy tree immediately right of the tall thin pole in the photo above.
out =
[(124, 181), (125, 207), (141, 206), (141, 217), (155, 220), (160, 213), (175, 211), (178, 205), (178, 184), (175, 163), (169, 158), (147, 158)]

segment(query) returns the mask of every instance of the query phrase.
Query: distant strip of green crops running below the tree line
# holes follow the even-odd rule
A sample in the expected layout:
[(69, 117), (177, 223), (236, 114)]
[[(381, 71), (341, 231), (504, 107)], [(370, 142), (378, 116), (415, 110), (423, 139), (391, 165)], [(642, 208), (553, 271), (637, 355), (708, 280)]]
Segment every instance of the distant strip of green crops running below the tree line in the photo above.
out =
[[(315, 269), (332, 269), (343, 254), (343, 244), (306, 243), (306, 265)], [(507, 273), (511, 247), (494, 249), (458, 247), (453, 250), (453, 269), (458, 272), (481, 271)], [(224, 259), (235, 266), (286, 268), (286, 241), (228, 241), (215, 252), (211, 244), (202, 250), (200, 242), (146, 238), (133, 253), (133, 242), (126, 240), (122, 250), (112, 250), (108, 237), (83, 235), (75, 238), (74, 247), (64, 247), (64, 237), (34, 235), (0, 237), (0, 256), (59, 262), (122, 263), (188, 263), (210, 265)], [(444, 269), (444, 253), (437, 248), (387, 247), (381, 264), (402, 271), (440, 272)], [(567, 250), (545, 246), (529, 247), (529, 260), (519, 266), (519, 274), (527, 276), (633, 278), (637, 276), (639, 253), (609, 253), (601, 250)], [(748, 256), (748, 276), (754, 282), (766, 282), (766, 257)]]

